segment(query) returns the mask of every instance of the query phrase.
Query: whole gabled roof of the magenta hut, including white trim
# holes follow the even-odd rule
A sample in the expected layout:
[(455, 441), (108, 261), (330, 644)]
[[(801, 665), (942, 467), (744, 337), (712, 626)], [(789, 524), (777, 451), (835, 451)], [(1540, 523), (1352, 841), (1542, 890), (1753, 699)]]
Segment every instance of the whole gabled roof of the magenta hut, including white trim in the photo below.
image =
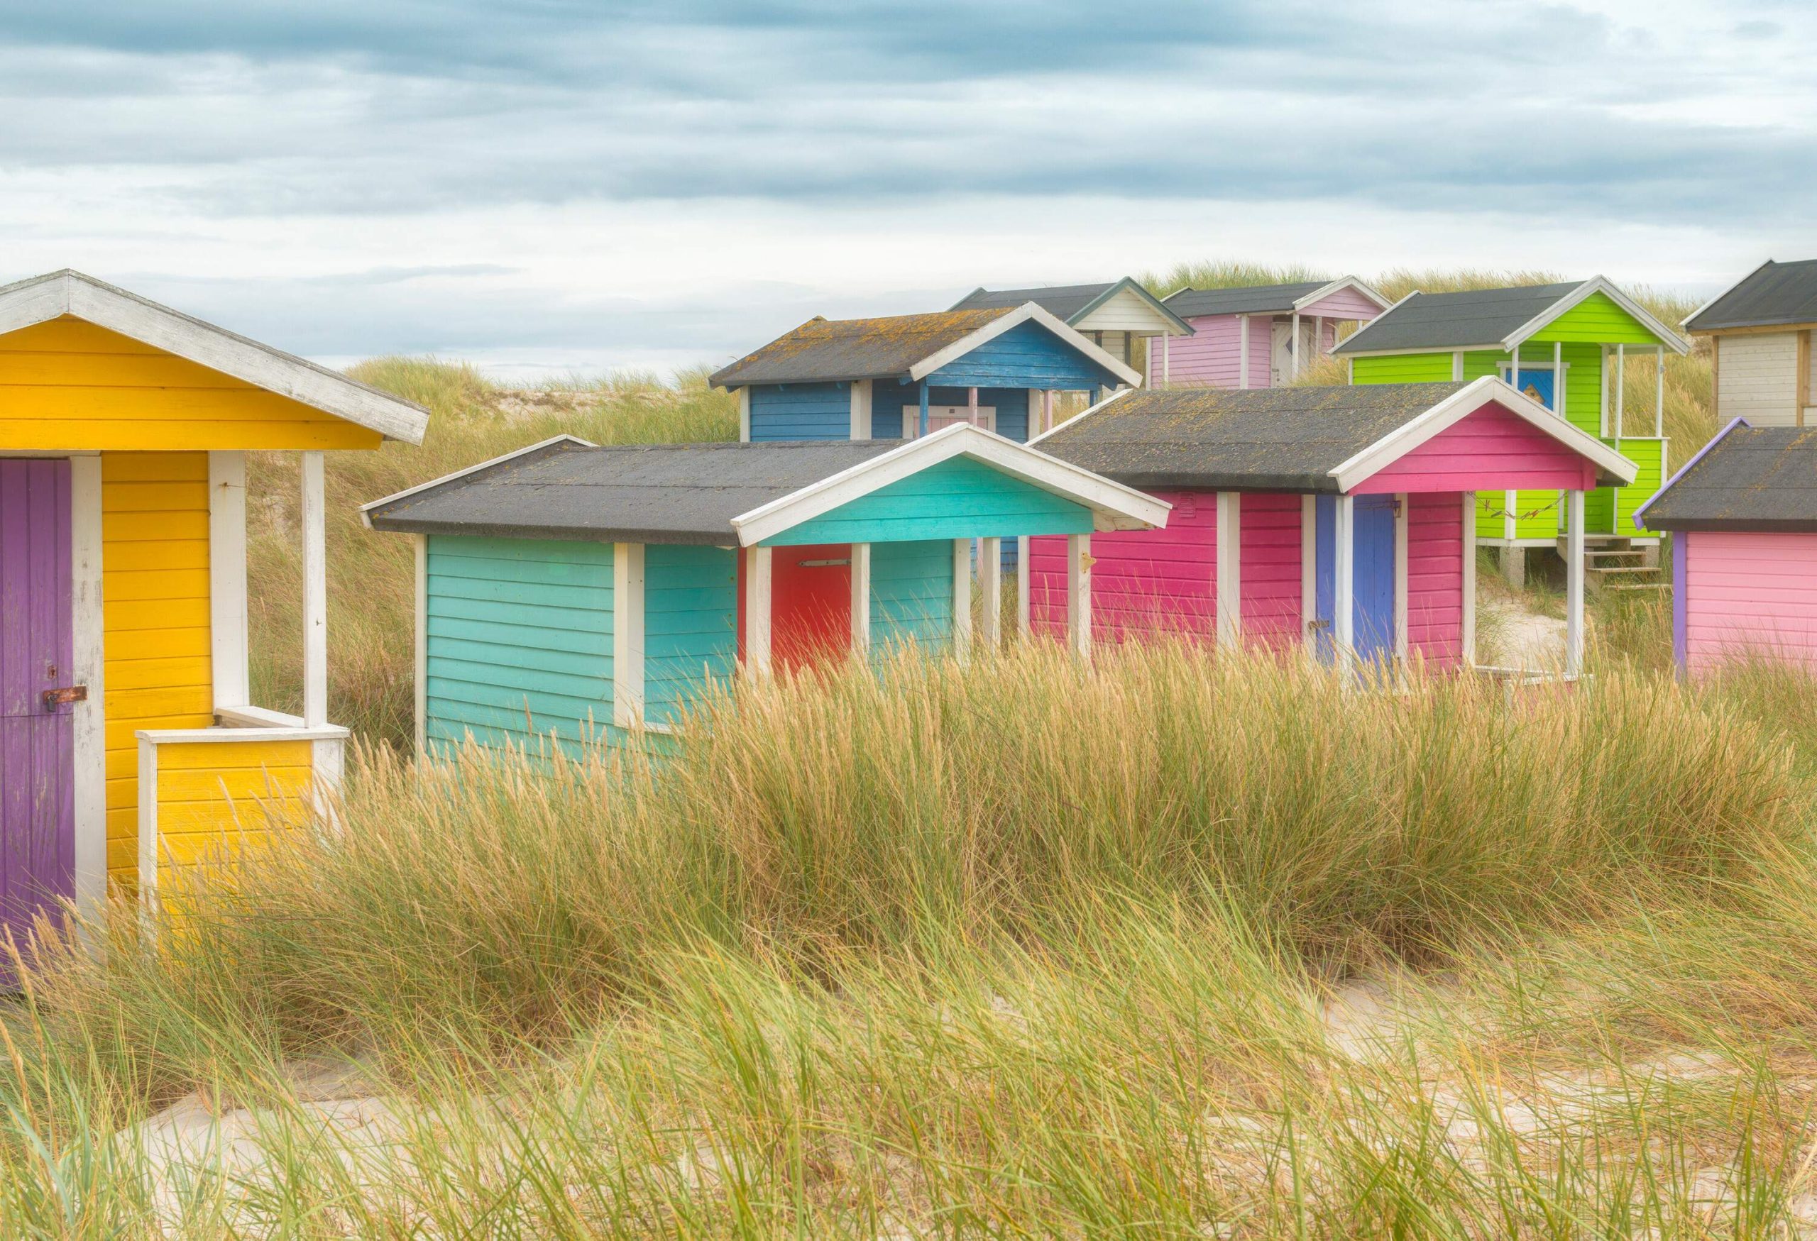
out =
[(1036, 445), (1132, 487), (1343, 492), (1486, 403), (1592, 460), (1606, 482), (1635, 467), (1499, 378), (1354, 387), (1119, 392)]

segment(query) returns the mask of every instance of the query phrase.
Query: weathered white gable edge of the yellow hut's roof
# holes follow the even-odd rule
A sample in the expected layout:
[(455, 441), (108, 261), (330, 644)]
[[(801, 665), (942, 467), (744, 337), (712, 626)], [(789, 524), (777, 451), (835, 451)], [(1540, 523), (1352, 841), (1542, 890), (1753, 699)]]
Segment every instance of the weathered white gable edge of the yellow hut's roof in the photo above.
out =
[(0, 334), (64, 316), (131, 336), (267, 392), (289, 396), (311, 409), (378, 431), (387, 440), (422, 443), (429, 427), (429, 411), (422, 405), (349, 380), (340, 371), (307, 358), (158, 305), (136, 293), (116, 289), (94, 276), (84, 276), (80, 271), (53, 271), (0, 287)]

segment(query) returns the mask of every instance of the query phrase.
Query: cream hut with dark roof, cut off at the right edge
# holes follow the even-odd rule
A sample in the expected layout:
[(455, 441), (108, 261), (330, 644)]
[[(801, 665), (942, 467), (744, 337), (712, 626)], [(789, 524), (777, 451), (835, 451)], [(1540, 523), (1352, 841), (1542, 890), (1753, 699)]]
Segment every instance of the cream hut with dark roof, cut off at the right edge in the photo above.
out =
[(1710, 338), (1717, 418), (1746, 418), (1752, 427), (1817, 427), (1817, 258), (1761, 263), (1684, 320), (1684, 331)]

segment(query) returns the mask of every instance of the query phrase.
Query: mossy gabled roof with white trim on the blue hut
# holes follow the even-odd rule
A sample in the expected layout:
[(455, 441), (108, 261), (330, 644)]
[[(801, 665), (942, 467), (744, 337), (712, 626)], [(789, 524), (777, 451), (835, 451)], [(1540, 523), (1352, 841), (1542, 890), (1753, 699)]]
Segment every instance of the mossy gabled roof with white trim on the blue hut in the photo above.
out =
[(889, 318), (812, 318), (756, 352), (714, 372), (716, 387), (752, 383), (829, 383), (843, 380), (921, 380), (954, 358), (1034, 320), (1125, 383), (1141, 374), (1079, 336), (1034, 302), (983, 311), (934, 311)]

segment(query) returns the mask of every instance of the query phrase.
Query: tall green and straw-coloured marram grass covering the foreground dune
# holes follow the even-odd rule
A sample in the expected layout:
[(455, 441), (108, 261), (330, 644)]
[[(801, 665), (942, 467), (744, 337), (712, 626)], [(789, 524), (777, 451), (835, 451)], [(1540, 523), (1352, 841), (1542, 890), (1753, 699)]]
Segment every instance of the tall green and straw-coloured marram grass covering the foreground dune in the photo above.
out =
[[(0, 1234), (1795, 1236), (1810, 740), (1757, 701), (1019, 650), (656, 763), (369, 749), (33, 976)], [(1405, 1019), (1328, 1019), (1357, 974)], [(184, 1096), (263, 1154), (153, 1163)]]

